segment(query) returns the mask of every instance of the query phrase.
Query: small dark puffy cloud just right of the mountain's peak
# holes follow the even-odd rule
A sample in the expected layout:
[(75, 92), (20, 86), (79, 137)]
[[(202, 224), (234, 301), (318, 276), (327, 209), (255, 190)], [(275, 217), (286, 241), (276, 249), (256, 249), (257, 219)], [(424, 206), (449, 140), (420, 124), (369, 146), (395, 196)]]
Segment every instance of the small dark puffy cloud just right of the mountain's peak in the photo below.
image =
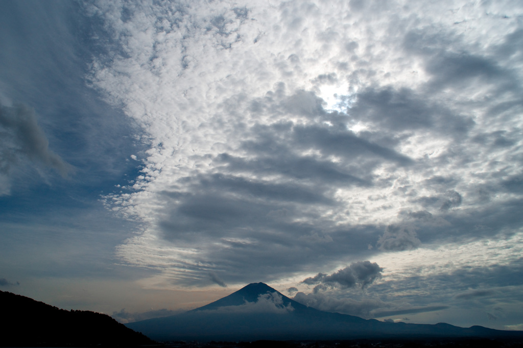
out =
[(383, 269), (376, 263), (370, 261), (359, 261), (351, 263), (331, 275), (318, 273), (302, 281), (304, 284), (321, 284), (330, 287), (354, 287), (360, 285), (365, 287), (381, 276)]

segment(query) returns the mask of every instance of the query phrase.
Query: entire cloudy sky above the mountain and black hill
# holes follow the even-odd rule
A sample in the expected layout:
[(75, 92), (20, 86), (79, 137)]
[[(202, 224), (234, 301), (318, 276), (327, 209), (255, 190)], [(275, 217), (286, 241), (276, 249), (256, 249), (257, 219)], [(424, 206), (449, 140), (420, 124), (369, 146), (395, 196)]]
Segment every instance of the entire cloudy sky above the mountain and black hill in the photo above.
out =
[(520, 1), (3, 1), (0, 47), (3, 291), (523, 330)]

